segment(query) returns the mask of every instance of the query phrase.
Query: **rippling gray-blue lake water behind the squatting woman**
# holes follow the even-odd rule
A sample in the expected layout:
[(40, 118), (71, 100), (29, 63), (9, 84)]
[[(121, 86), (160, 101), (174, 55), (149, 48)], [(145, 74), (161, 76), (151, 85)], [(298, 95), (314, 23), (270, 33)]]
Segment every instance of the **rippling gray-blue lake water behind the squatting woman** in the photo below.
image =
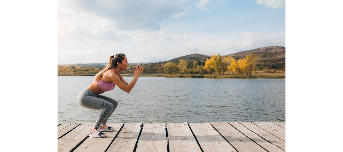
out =
[[(58, 76), (58, 123), (94, 123), (101, 110), (76, 97), (93, 76)], [(131, 82), (133, 77), (123, 77)], [(140, 77), (130, 93), (102, 95), (119, 102), (108, 123), (285, 121), (285, 79)]]

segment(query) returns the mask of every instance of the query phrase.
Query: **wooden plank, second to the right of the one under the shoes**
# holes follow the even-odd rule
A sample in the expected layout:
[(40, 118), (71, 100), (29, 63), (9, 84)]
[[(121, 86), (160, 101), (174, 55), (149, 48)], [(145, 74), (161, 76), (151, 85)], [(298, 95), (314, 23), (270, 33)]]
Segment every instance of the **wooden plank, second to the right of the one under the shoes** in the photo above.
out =
[(144, 124), (136, 152), (167, 152), (166, 127), (164, 123)]

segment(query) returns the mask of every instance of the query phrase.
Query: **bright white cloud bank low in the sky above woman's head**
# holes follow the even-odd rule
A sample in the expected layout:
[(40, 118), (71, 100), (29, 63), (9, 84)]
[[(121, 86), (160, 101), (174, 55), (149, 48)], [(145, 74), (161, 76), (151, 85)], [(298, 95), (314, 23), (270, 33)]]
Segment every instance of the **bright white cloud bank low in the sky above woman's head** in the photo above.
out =
[[(76, 26), (74, 34), (65, 34), (58, 37), (58, 63), (71, 64), (89, 63), (90, 57), (92, 63), (104, 63), (108, 55), (116, 53), (125, 53), (130, 56), (130, 63), (146, 62), (153, 58), (169, 60), (171, 58), (182, 56), (180, 44), (190, 41), (187, 36), (170, 35), (168, 31), (161, 28), (157, 31), (150, 29), (137, 30), (115, 30), (111, 29), (110, 24), (105, 24), (104, 29), (108, 28), (106, 37), (104, 33), (95, 31), (87, 32), (87, 28)], [(58, 31), (63, 32), (61, 30)], [(65, 32), (65, 31), (64, 31)], [(84, 36), (82, 32), (88, 34)], [(190, 46), (188, 51), (196, 50)], [(174, 52), (171, 57), (170, 52)], [(171, 58), (170, 58), (171, 57)]]

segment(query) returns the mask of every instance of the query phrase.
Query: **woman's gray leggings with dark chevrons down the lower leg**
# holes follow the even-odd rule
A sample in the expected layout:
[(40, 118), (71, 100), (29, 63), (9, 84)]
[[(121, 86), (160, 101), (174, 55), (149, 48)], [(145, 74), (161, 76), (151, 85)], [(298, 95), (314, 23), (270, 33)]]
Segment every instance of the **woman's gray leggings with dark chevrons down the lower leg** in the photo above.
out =
[(100, 124), (105, 124), (109, 116), (111, 116), (118, 106), (118, 101), (106, 96), (96, 95), (87, 88), (79, 93), (78, 103), (82, 107), (89, 109), (103, 109), (95, 121), (94, 128), (99, 128)]

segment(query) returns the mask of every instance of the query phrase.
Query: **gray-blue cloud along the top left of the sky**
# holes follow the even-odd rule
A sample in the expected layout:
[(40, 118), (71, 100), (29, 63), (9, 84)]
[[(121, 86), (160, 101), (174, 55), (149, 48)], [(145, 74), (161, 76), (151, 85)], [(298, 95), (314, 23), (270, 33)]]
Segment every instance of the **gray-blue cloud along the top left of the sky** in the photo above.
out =
[[(163, 19), (179, 19), (192, 11), (190, 1), (115, 1), (115, 0), (87, 0), (87, 1), (58, 1), (58, 9), (76, 9), (78, 15), (93, 14), (100, 18), (107, 18), (114, 23), (113, 28), (124, 30), (151, 29), (159, 30)], [(60, 10), (62, 11), (62, 10)], [(65, 10), (64, 10), (65, 11)], [(85, 18), (87, 18), (85, 16)]]

